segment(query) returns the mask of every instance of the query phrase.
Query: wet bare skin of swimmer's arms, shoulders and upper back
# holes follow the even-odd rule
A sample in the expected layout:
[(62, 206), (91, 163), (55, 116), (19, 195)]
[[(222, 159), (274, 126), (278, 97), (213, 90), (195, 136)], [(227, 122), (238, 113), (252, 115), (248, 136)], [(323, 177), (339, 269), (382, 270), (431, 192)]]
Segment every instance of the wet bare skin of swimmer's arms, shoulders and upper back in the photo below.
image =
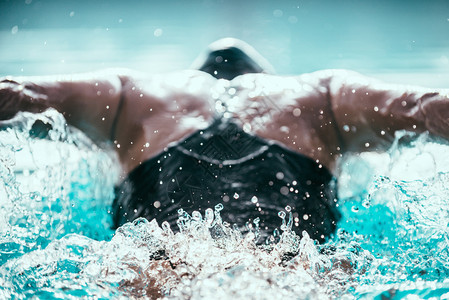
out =
[[(171, 143), (206, 128), (226, 106), (227, 115), (245, 131), (335, 172), (341, 154), (383, 150), (397, 130), (428, 130), (449, 138), (447, 95), (444, 90), (385, 84), (345, 70), (292, 77), (244, 74), (231, 81), (202, 71), (146, 76), (109, 70), (4, 78), (0, 117), (56, 108), (94, 141), (113, 144), (125, 176)], [(117, 126), (111, 136), (114, 119)]]

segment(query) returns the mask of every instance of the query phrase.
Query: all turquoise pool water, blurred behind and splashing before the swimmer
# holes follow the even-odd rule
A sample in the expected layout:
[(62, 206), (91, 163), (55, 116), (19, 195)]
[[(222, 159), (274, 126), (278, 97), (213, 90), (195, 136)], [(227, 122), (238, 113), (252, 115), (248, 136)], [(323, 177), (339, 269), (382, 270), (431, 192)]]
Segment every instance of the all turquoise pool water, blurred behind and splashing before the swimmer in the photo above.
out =
[[(184, 69), (233, 36), (279, 74), (345, 68), (447, 87), (448, 12), (445, 0), (0, 0), (0, 75)], [(36, 119), (53, 125), (44, 139), (30, 136)], [(280, 230), (260, 249), (256, 224), (242, 236), (213, 207), (181, 214), (176, 235), (143, 220), (110, 230), (116, 158), (64, 123), (49, 111), (2, 124), (0, 299), (449, 298), (441, 141), (401, 133), (387, 153), (345, 157), (335, 237)]]

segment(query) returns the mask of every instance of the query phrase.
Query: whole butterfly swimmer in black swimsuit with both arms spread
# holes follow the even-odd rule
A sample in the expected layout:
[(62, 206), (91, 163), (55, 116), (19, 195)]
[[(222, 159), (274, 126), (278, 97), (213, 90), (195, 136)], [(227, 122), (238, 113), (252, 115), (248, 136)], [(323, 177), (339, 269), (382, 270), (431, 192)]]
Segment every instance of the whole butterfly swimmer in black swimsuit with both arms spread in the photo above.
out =
[[(398, 130), (449, 138), (449, 94), (346, 70), (277, 76), (249, 45), (223, 39), (196, 70), (126, 70), (0, 79), (0, 118), (55, 108), (123, 170), (114, 226), (168, 221), (178, 210), (263, 232), (291, 211), (293, 230), (322, 242), (340, 218), (335, 178), (345, 153), (382, 151)], [(288, 220), (286, 220), (288, 221)]]

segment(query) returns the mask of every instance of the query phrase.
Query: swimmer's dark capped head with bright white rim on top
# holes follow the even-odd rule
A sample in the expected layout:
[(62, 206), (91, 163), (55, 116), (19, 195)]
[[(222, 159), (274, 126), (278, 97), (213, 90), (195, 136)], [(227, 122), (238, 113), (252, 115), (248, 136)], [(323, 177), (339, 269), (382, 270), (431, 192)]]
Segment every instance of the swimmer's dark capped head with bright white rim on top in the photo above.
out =
[(247, 43), (225, 38), (209, 45), (205, 54), (195, 62), (195, 69), (217, 79), (231, 80), (247, 73), (273, 73), (271, 65)]

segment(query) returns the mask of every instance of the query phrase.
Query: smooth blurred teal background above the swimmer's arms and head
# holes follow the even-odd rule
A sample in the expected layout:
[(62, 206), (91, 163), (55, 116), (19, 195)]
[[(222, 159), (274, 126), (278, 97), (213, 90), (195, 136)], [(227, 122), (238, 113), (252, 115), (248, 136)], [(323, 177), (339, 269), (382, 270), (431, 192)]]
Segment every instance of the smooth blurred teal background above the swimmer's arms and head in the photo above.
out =
[(279, 74), (449, 87), (448, 0), (0, 0), (0, 75), (186, 69), (228, 36)]

